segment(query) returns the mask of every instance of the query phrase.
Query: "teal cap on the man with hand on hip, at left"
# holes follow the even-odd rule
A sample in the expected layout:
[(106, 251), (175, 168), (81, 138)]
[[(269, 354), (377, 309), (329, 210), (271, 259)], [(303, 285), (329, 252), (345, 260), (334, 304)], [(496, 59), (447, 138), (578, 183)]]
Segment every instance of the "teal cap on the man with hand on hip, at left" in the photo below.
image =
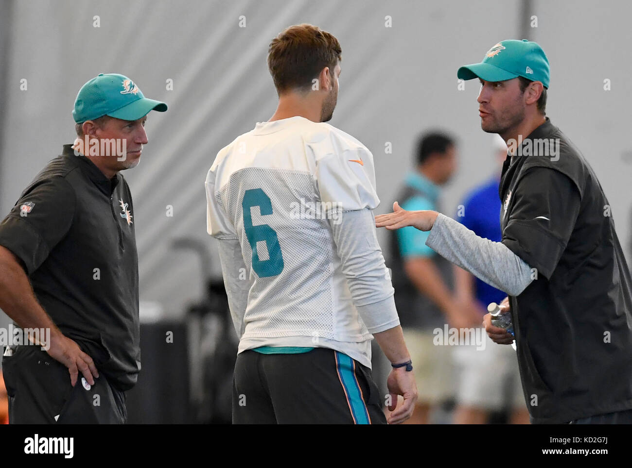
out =
[(146, 98), (136, 83), (118, 73), (99, 73), (81, 87), (75, 99), (73, 118), (77, 124), (104, 115), (116, 119), (137, 120), (150, 110), (164, 112), (164, 102)]

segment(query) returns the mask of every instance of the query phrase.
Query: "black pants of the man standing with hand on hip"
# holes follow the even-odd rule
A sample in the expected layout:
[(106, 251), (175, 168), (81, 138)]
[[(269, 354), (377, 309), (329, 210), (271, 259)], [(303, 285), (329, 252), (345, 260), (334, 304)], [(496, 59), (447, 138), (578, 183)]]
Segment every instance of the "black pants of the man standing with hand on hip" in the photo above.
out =
[(9, 424), (124, 424), (125, 392), (114, 388), (104, 373), (89, 387), (79, 372), (75, 387), (68, 368), (39, 346), (17, 346), (3, 356), (9, 395)]

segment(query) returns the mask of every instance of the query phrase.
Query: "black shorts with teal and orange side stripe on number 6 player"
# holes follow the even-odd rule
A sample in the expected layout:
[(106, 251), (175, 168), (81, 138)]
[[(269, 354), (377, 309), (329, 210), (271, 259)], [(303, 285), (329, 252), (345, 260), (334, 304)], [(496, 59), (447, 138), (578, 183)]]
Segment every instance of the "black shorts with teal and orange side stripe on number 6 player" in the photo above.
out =
[(238, 354), (233, 424), (386, 424), (371, 370), (346, 354)]

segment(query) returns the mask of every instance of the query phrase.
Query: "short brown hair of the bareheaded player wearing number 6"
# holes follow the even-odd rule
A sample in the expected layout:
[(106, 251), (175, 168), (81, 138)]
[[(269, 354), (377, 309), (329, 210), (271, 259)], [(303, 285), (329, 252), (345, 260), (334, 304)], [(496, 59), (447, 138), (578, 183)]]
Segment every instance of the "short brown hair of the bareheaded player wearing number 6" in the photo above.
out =
[(331, 73), (341, 57), (338, 40), (317, 26), (303, 23), (289, 26), (272, 39), (268, 48), (268, 68), (277, 93), (307, 90), (324, 67)]

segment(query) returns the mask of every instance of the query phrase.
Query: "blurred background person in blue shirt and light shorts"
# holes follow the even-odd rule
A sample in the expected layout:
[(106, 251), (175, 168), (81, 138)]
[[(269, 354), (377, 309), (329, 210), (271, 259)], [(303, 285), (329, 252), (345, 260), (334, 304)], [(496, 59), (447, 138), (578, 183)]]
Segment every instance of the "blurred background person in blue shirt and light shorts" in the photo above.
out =
[[(507, 146), (501, 137), (494, 135), (493, 147), (499, 162), (498, 172), (465, 197), (454, 219), (480, 237), (501, 242), (498, 186)], [(462, 307), (476, 311), (480, 317), (478, 327), (487, 313), (487, 305), (490, 302), (501, 303), (507, 295), (457, 266), (454, 266), (454, 280), (457, 300)], [(511, 346), (494, 346), (483, 331), (480, 336), (487, 340), (486, 346), (462, 345), (454, 352), (458, 375), (454, 423), (485, 424), (491, 411), (501, 411), (508, 406), (509, 423), (528, 424), (529, 413), (520, 383), (516, 352)]]

